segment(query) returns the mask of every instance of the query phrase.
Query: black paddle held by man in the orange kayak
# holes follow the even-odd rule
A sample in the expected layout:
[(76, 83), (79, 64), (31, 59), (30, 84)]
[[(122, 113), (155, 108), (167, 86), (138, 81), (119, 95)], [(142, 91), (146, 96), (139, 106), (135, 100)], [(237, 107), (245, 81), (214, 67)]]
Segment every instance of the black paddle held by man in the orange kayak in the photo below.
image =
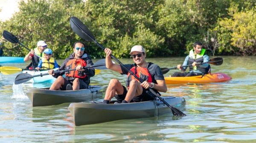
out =
[[(208, 62), (201, 62), (201, 63), (195, 64), (195, 65), (206, 64), (206, 63), (213, 64), (213, 65), (221, 65), (223, 63), (223, 59), (221, 57), (216, 57), (216, 58), (210, 59)], [(180, 66), (180, 67), (189, 67), (189, 66), (192, 66), (192, 64), (184, 65), (184, 66)], [(163, 68), (161, 68), (163, 74), (168, 73), (172, 69), (177, 69), (177, 67), (171, 67), (171, 68), (163, 67)]]

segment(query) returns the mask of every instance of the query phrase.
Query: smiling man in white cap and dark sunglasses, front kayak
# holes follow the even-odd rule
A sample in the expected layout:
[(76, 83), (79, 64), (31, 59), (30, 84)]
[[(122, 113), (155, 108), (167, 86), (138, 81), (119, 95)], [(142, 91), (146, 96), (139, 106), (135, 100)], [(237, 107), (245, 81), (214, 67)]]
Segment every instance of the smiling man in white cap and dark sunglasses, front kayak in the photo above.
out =
[(115, 97), (117, 103), (141, 102), (153, 100), (154, 97), (146, 93), (146, 89), (151, 87), (154, 91), (166, 92), (167, 87), (163, 77), (163, 73), (157, 64), (146, 62), (145, 49), (141, 45), (135, 45), (131, 48), (131, 57), (134, 64), (125, 64), (124, 66), (130, 69), (143, 83), (137, 81), (125, 67), (119, 64), (113, 64), (111, 61), (112, 50), (105, 48), (106, 67), (121, 74), (127, 75), (126, 87), (122, 86), (117, 79), (111, 79), (105, 93), (103, 104), (109, 104), (111, 98)]

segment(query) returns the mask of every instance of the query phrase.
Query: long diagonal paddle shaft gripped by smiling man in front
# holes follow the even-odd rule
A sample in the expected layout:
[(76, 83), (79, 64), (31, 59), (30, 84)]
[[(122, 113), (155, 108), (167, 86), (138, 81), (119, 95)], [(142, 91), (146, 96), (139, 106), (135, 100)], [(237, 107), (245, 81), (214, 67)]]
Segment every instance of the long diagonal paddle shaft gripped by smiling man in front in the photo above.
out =
[[(82, 31), (82, 32), (83, 32), (84, 34), (87, 34), (87, 33), (85, 33), (84, 31)], [(89, 34), (87, 34), (87, 35), (90, 36)], [(90, 36), (90, 38), (93, 40), (94, 43), (96, 43), (96, 45), (98, 45), (100, 48), (102, 48), (102, 50), (105, 50), (105, 48), (104, 48), (101, 44), (99, 44), (99, 42), (97, 42), (95, 39), (93, 39), (92, 36)], [(120, 65), (122, 65), (122, 66), (125, 68), (125, 70), (127, 70), (132, 76), (134, 76), (138, 81), (140, 81), (140, 83), (143, 83), (143, 81), (142, 81), (140, 78), (138, 78), (130, 69), (128, 69), (127, 67), (125, 67), (124, 64), (122, 64), (122, 62), (120, 62), (118, 59), (116, 59), (115, 56), (113, 56), (112, 54), (111, 54), (110, 56), (111, 56), (111, 58), (113, 58), (116, 62), (118, 62)], [(162, 101), (164, 104), (166, 104), (167, 107), (169, 107), (170, 109), (173, 110), (173, 107), (172, 107), (170, 104), (168, 104), (160, 95), (158, 95), (151, 87), (149, 87), (148, 90), (149, 90), (152, 94), (154, 94), (157, 98), (159, 98), (160, 101)], [(148, 93), (148, 94), (150, 94), (150, 93)], [(186, 114), (183, 113), (183, 115), (186, 115)]]

